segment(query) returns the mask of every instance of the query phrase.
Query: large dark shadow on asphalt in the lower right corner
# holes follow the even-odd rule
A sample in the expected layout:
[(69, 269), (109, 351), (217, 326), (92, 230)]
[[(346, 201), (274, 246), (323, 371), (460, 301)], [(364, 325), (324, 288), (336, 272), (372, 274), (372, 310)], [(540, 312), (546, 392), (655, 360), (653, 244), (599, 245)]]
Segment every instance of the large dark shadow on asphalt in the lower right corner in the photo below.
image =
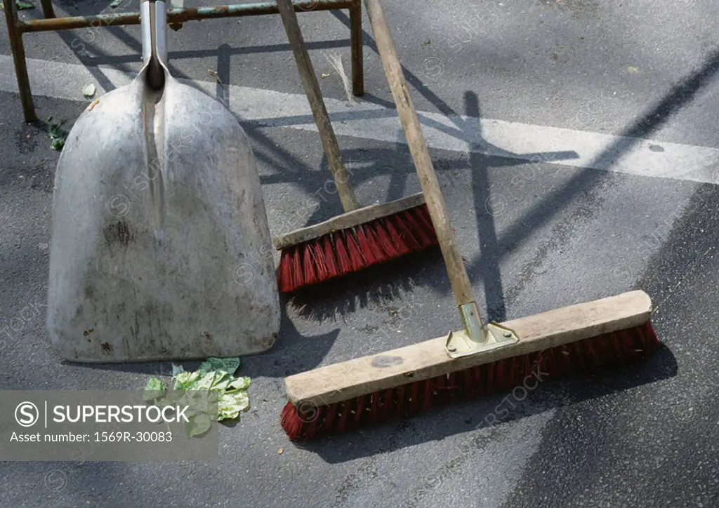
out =
[[(557, 415), (526, 465), (528, 474), (521, 489), (515, 489), (505, 507), (526, 506), (539, 497), (547, 506), (558, 499), (573, 499), (580, 506), (597, 496), (599, 478), (615, 485), (622, 499), (641, 500), (644, 506), (684, 504), (684, 499), (677, 498), (685, 496), (685, 491), (677, 486), (690, 486), (697, 503), (712, 504), (701, 496), (715, 495), (715, 489), (704, 490), (715, 484), (712, 468), (704, 464), (715, 460), (713, 429), (718, 417), (714, 402), (719, 358), (715, 340), (718, 215), (719, 185), (700, 185), (671, 231), (637, 239), (632, 257), (620, 261), (626, 273), (638, 280), (636, 289), (651, 296), (654, 329), (667, 346), (676, 348), (681, 371), (669, 376), (670, 370), (677, 371), (674, 361), (655, 359), (643, 371), (674, 378), (661, 388), (626, 394), (599, 408), (567, 408)], [(650, 259), (642, 259), (649, 241), (661, 241), (661, 249)], [(597, 419), (597, 412), (603, 420), (610, 419), (610, 425), (600, 421), (591, 432), (582, 429), (583, 422)], [(591, 453), (575, 455), (567, 450)], [(664, 460), (656, 460), (659, 455)], [(644, 468), (616, 467), (644, 460), (651, 468), (649, 475)]]

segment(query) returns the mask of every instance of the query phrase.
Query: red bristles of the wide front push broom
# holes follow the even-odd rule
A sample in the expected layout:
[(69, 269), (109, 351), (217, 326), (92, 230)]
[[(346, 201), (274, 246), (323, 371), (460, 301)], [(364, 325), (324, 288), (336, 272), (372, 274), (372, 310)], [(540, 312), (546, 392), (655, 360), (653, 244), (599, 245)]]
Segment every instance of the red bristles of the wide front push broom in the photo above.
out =
[[(280, 423), (291, 440), (308, 440), (319, 435), (342, 433), (352, 428), (409, 417), (431, 407), (441, 407), (457, 398), (488, 394), (521, 386), (523, 379), (539, 374), (541, 380), (553, 379), (570, 371), (582, 372), (603, 364), (636, 361), (656, 351), (659, 341), (651, 324), (627, 331), (606, 333), (567, 346), (471, 367), (421, 382), (403, 384), (393, 389), (366, 394), (347, 402), (319, 408), (317, 417), (303, 421), (291, 402), (285, 405)], [(568, 361), (569, 360), (569, 361)], [(514, 384), (511, 385), (511, 382)], [(505, 386), (509, 384), (510, 386)], [(445, 395), (456, 391), (460, 397)]]

